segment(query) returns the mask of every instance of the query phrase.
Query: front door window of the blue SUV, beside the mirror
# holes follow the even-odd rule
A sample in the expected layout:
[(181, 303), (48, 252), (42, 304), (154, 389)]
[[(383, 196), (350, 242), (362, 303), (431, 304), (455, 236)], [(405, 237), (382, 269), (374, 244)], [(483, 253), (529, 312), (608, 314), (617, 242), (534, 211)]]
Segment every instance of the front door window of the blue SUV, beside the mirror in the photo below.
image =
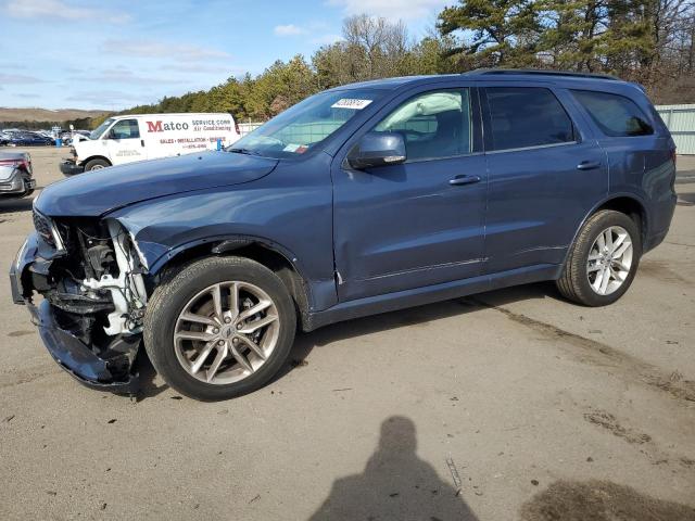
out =
[(402, 135), (408, 161), (431, 160), (469, 154), (470, 123), (469, 90), (439, 90), (405, 101), (372, 131)]

